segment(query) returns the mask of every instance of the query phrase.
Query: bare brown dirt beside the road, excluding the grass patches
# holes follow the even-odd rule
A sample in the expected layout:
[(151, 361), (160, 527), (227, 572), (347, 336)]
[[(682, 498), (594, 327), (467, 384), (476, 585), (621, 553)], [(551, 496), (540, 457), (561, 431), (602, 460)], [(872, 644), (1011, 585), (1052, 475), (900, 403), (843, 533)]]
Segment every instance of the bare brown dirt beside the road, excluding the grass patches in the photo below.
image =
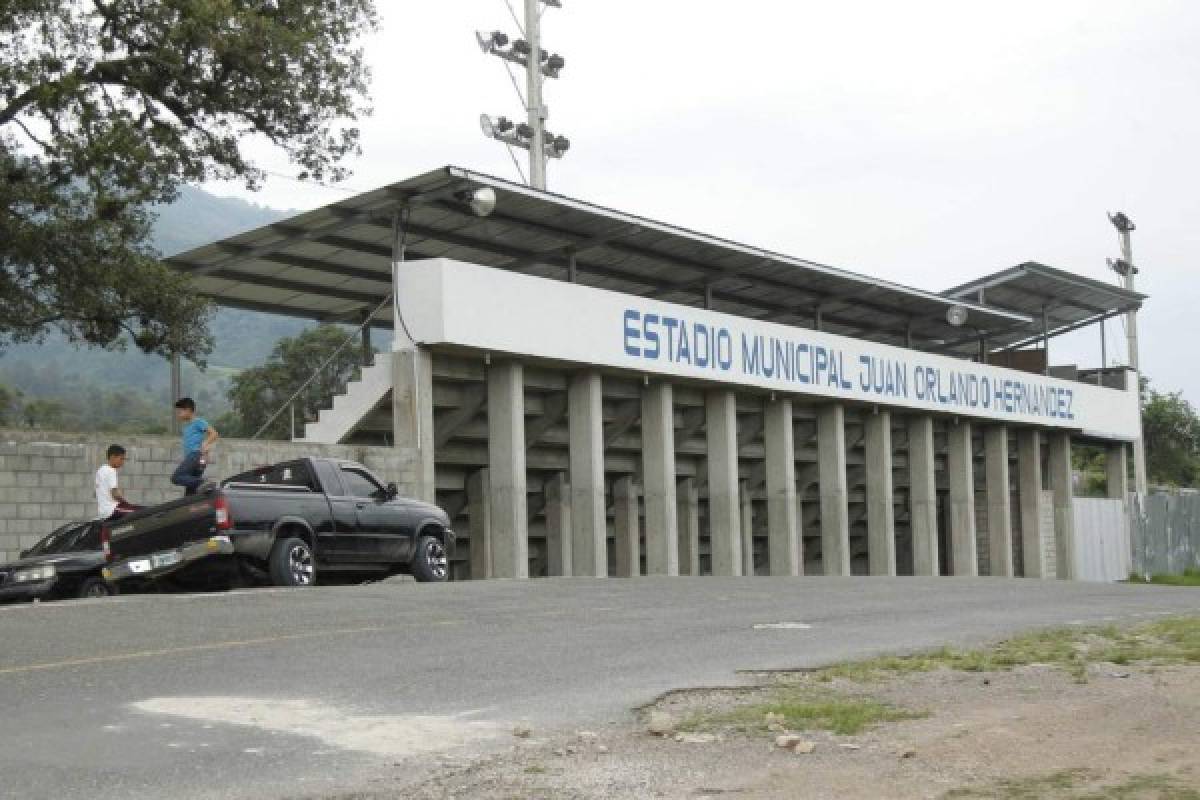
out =
[[(779, 680), (770, 679), (774, 685)], [(796, 679), (791, 679), (796, 680)], [(800, 678), (799, 680), (804, 680)], [(830, 690), (869, 694), (924, 718), (857, 735), (778, 732), (652, 735), (644, 718), (449, 760), (437, 777), (379, 796), (545, 798), (1097, 798), (1200, 799), (1200, 668), (1092, 664), (1087, 682), (1051, 666), (938, 670)], [(758, 692), (761, 693), (761, 692)], [(673, 693), (653, 710), (685, 720), (756, 699), (752, 690)], [(682, 734), (688, 738), (688, 734)]]

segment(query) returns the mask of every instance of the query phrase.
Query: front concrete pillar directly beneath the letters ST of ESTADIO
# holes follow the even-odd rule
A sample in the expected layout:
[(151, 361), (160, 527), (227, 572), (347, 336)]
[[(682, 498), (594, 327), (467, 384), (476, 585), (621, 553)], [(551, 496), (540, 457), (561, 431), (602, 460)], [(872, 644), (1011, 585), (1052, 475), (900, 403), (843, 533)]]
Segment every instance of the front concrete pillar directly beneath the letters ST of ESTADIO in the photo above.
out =
[(666, 381), (652, 381), (642, 390), (642, 485), (646, 575), (679, 575), (674, 392)]

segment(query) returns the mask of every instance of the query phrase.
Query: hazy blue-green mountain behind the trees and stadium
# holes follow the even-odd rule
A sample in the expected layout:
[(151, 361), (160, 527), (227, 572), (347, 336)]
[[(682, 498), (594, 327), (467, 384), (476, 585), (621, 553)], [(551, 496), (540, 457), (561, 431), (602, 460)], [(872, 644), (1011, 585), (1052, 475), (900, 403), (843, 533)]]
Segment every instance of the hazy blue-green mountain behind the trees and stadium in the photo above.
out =
[[(290, 212), (268, 209), (199, 188), (185, 188), (178, 201), (156, 209), (154, 245), (173, 254), (275, 222)], [(275, 343), (312, 323), (246, 311), (220, 309), (212, 323), (216, 347), (205, 371), (185, 365), (184, 391), (204, 413), (228, 409), (229, 378), (262, 363)], [(72, 347), (60, 336), (0, 353), (0, 385), (19, 390), (26, 401), (58, 403), (59, 415), (43, 427), (79, 431), (152, 431), (169, 419), (170, 368), (157, 356)]]

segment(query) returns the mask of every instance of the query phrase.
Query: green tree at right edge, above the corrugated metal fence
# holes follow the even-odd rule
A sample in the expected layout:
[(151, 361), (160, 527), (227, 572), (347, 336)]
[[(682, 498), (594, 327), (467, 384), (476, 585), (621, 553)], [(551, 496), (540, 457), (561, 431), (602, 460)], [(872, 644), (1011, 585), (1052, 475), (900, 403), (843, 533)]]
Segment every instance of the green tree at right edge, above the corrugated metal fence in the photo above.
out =
[(1200, 417), (1182, 392), (1156, 392), (1142, 384), (1146, 474), (1159, 486), (1200, 482)]

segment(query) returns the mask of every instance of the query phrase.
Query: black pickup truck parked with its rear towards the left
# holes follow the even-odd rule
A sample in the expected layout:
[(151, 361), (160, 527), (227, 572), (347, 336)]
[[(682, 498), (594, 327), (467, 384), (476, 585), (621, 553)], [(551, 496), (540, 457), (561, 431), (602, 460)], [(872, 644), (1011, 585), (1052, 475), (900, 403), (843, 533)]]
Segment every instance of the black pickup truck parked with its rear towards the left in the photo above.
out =
[(120, 583), (203, 569), (232, 555), (281, 587), (325, 572), (410, 572), (445, 581), (455, 535), (434, 505), (398, 497), (361, 464), (301, 458), (209, 485), (101, 531), (104, 577)]

